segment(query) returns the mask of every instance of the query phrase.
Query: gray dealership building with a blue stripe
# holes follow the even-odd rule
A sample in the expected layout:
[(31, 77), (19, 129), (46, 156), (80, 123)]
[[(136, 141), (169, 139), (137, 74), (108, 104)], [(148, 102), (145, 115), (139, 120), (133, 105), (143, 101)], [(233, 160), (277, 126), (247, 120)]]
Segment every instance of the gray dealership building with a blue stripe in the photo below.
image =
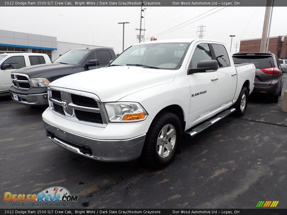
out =
[[(51, 61), (70, 49), (94, 45), (57, 41), (57, 37), (0, 30), (0, 51), (26, 51), (47, 54)], [(97, 47), (100, 47), (97, 45)]]

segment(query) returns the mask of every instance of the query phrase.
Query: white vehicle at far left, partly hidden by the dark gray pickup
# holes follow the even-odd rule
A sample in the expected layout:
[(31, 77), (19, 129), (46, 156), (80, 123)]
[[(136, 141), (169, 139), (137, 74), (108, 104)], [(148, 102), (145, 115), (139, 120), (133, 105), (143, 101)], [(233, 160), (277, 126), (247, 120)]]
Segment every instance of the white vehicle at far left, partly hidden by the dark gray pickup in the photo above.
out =
[(40, 53), (15, 52), (0, 53), (0, 94), (9, 93), (12, 85), (11, 72), (37, 64), (51, 63), (48, 55)]

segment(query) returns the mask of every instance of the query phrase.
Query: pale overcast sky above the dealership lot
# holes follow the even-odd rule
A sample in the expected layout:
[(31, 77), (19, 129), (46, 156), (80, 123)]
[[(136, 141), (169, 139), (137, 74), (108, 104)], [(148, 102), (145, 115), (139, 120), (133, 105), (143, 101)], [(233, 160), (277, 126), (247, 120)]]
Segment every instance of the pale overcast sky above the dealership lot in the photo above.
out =
[[(142, 14), (142, 29), (146, 29), (145, 39), (151, 36), (158, 40), (198, 39), (198, 26), (204, 25), (206, 31), (203, 39), (220, 40), (230, 47), (229, 35), (235, 35), (231, 48), (231, 53), (235, 53), (236, 42), (262, 36), (265, 7), (145, 8)], [(286, 11), (287, 7), (274, 7), (271, 37), (287, 35), (283, 22)], [(63, 42), (113, 47), (116, 53), (120, 53), (123, 24), (117, 23), (130, 22), (125, 24), (125, 49), (137, 44), (139, 31), (135, 29), (140, 28), (140, 12), (141, 7), (5, 7), (5, 10), (1, 10), (0, 29), (55, 36), (57, 41)], [(3, 21), (4, 17), (9, 18)], [(172, 27), (177, 25), (186, 26), (174, 30)], [(174, 31), (169, 32), (170, 28)]]

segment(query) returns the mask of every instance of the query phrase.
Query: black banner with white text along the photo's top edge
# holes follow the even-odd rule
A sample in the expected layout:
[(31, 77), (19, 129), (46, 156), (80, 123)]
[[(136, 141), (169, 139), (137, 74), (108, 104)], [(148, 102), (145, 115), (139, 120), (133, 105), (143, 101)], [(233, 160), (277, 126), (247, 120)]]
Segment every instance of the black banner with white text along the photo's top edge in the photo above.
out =
[[(19, 0), (0, 1), (1, 7), (265, 7), (266, 0)], [(274, 0), (274, 7), (287, 7), (287, 0)], [(242, 14), (243, 16), (244, 14)]]

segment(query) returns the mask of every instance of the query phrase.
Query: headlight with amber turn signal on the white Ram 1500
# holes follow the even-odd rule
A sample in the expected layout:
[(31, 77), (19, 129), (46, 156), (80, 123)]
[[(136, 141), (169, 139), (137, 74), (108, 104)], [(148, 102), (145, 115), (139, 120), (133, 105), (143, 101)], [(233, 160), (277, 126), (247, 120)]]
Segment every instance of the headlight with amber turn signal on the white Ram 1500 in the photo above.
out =
[(110, 122), (134, 122), (146, 119), (147, 113), (138, 103), (105, 103)]

